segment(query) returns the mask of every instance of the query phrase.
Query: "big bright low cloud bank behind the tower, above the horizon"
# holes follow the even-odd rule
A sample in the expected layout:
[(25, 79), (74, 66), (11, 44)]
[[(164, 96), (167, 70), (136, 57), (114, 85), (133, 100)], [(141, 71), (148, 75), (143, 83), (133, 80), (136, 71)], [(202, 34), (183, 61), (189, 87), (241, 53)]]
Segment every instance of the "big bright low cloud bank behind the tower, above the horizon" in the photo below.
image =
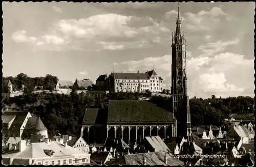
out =
[[(138, 69), (151, 70), (153, 63), (157, 74), (164, 78), (165, 88), (170, 89), (170, 55), (126, 61), (119, 65), (127, 65), (130, 72), (136, 72)], [(243, 55), (229, 52), (214, 57), (191, 58), (187, 60), (189, 96), (208, 98), (212, 94), (222, 97), (244, 95), (244, 91), (247, 90), (245, 83), (246, 88), (251, 89), (251, 92), (246, 93), (251, 95), (254, 91), (252, 68), (253, 60), (246, 60)]]

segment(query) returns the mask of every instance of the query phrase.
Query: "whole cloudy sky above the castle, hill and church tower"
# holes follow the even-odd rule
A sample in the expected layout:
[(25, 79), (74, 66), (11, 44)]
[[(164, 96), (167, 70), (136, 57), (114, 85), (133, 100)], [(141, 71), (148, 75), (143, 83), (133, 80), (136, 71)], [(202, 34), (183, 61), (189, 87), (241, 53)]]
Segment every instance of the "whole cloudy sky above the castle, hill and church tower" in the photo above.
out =
[[(180, 3), (190, 97), (254, 97), (254, 2)], [(154, 70), (170, 89), (178, 3), (3, 3), (3, 76)]]

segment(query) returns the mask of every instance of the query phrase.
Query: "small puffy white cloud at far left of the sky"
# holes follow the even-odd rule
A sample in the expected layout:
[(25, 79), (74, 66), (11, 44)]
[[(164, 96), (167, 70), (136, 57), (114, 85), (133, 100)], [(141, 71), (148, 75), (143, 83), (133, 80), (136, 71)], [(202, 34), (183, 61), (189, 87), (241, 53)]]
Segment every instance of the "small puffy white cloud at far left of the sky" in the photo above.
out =
[(29, 37), (26, 34), (27, 32), (25, 30), (16, 31), (12, 34), (11, 39), (17, 43), (35, 42), (37, 40), (35, 37)]

